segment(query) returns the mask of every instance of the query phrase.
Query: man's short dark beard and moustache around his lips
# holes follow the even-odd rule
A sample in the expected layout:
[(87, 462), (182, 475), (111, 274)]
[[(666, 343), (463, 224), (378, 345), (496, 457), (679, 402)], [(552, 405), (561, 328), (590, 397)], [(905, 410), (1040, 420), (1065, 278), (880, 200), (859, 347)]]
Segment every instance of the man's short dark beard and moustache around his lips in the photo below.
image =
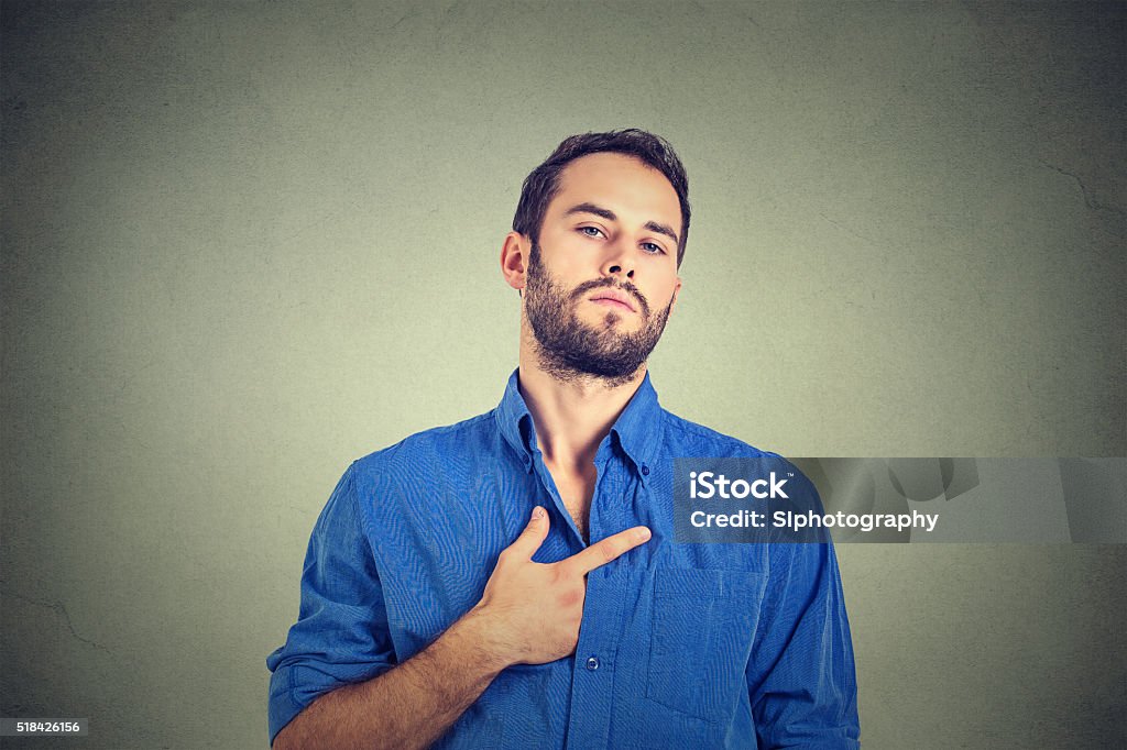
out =
[[(583, 298), (604, 287), (614, 287), (633, 298), (641, 313), (640, 329), (621, 331), (623, 314), (614, 309), (607, 309), (601, 323), (594, 327), (579, 320), (576, 310)], [(673, 309), (669, 300), (655, 314), (638, 287), (630, 282), (619, 284), (613, 277), (584, 282), (568, 291), (543, 267), (536, 243), (529, 253), (524, 303), (541, 368), (559, 381), (596, 378), (607, 386), (629, 382), (646, 363)]]

